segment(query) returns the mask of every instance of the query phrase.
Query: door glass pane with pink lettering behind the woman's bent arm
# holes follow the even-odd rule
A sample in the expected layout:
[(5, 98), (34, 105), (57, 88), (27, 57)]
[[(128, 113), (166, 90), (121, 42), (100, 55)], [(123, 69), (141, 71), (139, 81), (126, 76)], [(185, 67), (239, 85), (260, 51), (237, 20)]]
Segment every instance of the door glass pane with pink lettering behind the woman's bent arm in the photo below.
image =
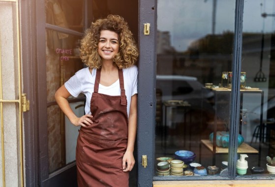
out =
[[(72, 125), (55, 101), (55, 92), (76, 71), (83, 68), (79, 57), (79, 36), (46, 30), (47, 116), (49, 172), (75, 160), (78, 128)], [(59, 39), (58, 36), (63, 38)], [(82, 99), (81, 99), (82, 98)], [(70, 106), (78, 116), (84, 115), (84, 95), (69, 98)]]

